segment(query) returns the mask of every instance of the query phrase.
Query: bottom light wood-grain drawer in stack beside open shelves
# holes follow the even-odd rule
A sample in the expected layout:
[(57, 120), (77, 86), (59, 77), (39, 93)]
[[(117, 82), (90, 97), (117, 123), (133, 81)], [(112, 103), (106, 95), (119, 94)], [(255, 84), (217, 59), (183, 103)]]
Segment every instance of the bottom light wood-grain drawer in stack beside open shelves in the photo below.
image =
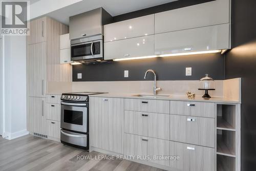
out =
[(215, 171), (215, 148), (190, 145), (170, 141), (171, 170), (177, 171)]

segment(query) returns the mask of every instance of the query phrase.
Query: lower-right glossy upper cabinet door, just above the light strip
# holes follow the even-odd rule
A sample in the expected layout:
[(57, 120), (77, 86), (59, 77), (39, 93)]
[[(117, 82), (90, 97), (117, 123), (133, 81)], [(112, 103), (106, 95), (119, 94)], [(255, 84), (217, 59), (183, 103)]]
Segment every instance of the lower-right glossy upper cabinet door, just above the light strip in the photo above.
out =
[(229, 24), (155, 34), (155, 54), (230, 49)]

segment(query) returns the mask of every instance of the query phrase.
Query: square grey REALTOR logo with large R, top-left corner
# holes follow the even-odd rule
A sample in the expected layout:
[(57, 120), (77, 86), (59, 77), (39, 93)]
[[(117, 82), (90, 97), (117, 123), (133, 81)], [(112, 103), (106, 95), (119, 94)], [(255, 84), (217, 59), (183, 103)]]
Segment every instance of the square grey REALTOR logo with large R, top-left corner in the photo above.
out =
[(28, 35), (29, 1), (1, 1), (1, 35)]

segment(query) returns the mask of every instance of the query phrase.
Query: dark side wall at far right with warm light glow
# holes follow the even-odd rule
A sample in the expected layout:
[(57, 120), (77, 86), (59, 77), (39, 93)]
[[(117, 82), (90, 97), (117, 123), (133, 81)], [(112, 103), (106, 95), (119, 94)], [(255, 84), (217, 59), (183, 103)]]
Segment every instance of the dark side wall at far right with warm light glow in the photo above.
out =
[(232, 50), (226, 78), (242, 77), (241, 170), (256, 170), (256, 1), (232, 0)]

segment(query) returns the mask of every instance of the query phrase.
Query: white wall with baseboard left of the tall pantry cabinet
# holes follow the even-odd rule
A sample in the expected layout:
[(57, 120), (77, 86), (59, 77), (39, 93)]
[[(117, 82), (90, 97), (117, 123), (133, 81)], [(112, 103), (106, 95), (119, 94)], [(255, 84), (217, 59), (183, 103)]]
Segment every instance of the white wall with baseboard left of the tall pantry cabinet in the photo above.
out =
[(4, 39), (3, 137), (17, 138), (28, 134), (26, 124), (26, 36)]

